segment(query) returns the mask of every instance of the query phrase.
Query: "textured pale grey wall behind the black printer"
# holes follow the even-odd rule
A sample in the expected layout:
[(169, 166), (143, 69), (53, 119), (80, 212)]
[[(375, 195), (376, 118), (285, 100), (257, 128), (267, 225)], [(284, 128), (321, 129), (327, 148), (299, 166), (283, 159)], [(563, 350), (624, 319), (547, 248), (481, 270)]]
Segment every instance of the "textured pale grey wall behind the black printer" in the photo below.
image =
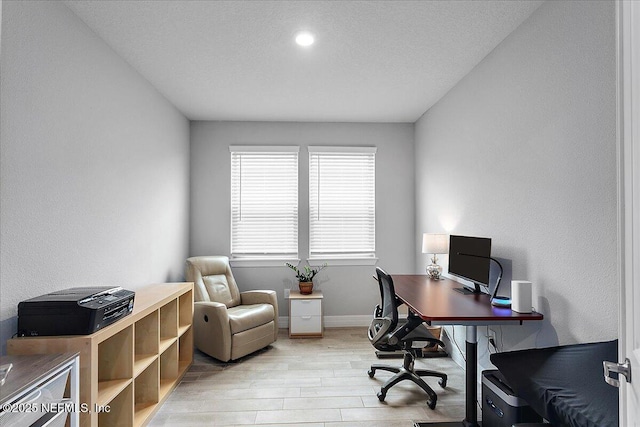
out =
[(182, 280), (189, 123), (59, 2), (3, 2), (0, 294)]

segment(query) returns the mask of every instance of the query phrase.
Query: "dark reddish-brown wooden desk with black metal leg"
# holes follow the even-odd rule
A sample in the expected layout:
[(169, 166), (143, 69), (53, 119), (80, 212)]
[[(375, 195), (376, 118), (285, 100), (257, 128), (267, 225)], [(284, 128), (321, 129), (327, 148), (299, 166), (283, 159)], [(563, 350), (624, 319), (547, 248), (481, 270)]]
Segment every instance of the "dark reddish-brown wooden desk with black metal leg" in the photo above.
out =
[(466, 395), (465, 419), (455, 423), (434, 423), (433, 426), (478, 426), (476, 408), (478, 375), (478, 326), (508, 324), (525, 320), (542, 320), (540, 313), (516, 313), (509, 308), (491, 305), (486, 294), (465, 295), (455, 291), (462, 284), (450, 279), (432, 280), (425, 275), (392, 275), (398, 298), (411, 311), (432, 325), (466, 326)]

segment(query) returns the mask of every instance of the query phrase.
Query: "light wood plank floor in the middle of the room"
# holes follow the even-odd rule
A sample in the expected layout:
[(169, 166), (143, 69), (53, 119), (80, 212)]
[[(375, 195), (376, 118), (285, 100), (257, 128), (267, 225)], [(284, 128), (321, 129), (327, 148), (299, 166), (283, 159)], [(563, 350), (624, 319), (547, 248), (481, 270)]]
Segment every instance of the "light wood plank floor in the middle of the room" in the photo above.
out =
[(150, 426), (303, 426), (411, 427), (413, 421), (464, 418), (464, 371), (450, 358), (416, 360), (416, 368), (443, 371), (446, 389), (427, 382), (438, 394), (435, 410), (424, 392), (403, 381), (376, 397), (391, 373), (372, 363), (400, 365), (401, 359), (377, 359), (366, 328), (326, 329), (324, 338), (295, 339), (280, 330), (278, 341), (239, 361), (221, 363), (195, 352), (194, 363), (151, 420)]

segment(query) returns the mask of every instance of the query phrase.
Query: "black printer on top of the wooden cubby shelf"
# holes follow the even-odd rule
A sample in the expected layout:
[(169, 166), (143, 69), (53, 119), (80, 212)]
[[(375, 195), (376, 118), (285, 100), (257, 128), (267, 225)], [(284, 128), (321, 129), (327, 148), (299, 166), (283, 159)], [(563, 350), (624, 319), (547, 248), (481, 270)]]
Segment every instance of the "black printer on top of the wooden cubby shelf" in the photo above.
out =
[(89, 335), (133, 311), (121, 287), (70, 288), (18, 304), (18, 336)]

